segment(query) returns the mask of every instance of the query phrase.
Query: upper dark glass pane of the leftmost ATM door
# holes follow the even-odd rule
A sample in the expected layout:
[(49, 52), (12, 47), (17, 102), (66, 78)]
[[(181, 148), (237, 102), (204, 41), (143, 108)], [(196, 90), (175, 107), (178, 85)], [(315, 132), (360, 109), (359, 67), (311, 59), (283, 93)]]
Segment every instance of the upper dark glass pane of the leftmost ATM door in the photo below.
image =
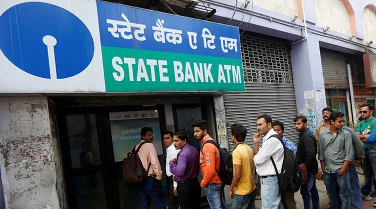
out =
[(101, 160), (95, 115), (74, 114), (66, 118), (72, 168), (99, 165)]

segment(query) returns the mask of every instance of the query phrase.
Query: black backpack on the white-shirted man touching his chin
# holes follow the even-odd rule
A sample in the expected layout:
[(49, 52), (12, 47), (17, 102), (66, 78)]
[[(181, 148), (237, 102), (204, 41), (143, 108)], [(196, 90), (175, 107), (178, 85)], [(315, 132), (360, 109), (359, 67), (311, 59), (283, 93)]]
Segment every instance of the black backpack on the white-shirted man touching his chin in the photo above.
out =
[(299, 162), (294, 153), (287, 149), (283, 144), (281, 137), (278, 134), (272, 135), (271, 137), (277, 138), (283, 145), (283, 163), (281, 173), (278, 173), (277, 166), (275, 165), (273, 157), (272, 160), (274, 169), (278, 177), (278, 185), (281, 191), (291, 191), (297, 192), (302, 185), (303, 175), (301, 168), (299, 167)]

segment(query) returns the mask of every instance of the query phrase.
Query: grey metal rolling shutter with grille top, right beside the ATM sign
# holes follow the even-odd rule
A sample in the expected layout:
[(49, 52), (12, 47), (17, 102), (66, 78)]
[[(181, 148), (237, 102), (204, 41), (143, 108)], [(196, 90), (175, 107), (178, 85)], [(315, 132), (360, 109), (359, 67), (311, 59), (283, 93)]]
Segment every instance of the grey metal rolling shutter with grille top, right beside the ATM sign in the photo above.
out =
[(297, 115), (292, 79), (290, 44), (278, 39), (245, 33), (241, 37), (246, 92), (224, 96), (229, 147), (231, 125), (241, 123), (248, 129), (246, 143), (253, 147), (256, 118), (269, 114), (285, 126), (285, 136), (297, 144), (294, 118)]

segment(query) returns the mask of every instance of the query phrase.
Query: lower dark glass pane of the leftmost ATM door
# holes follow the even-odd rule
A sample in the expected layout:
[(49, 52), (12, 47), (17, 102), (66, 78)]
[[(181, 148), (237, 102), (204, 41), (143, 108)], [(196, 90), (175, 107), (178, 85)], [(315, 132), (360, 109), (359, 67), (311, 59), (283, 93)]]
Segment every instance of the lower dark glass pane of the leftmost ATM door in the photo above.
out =
[(105, 209), (106, 198), (102, 173), (73, 178), (78, 209)]

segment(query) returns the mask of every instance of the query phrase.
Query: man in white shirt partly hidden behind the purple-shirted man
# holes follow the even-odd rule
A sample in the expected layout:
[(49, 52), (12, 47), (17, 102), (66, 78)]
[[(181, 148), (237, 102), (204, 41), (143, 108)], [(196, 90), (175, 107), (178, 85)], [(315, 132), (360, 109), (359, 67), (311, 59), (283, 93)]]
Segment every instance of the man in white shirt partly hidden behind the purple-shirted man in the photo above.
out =
[[(173, 133), (171, 131), (166, 131), (163, 133), (163, 144), (166, 147), (166, 175), (167, 175), (167, 190), (169, 193), (168, 198), (168, 208), (177, 209), (179, 208), (179, 198), (177, 197), (177, 182), (172, 180), (172, 173), (170, 172), (169, 161), (176, 158), (177, 153), (180, 149), (175, 149), (172, 144)], [(173, 186), (173, 187), (171, 187)]]

